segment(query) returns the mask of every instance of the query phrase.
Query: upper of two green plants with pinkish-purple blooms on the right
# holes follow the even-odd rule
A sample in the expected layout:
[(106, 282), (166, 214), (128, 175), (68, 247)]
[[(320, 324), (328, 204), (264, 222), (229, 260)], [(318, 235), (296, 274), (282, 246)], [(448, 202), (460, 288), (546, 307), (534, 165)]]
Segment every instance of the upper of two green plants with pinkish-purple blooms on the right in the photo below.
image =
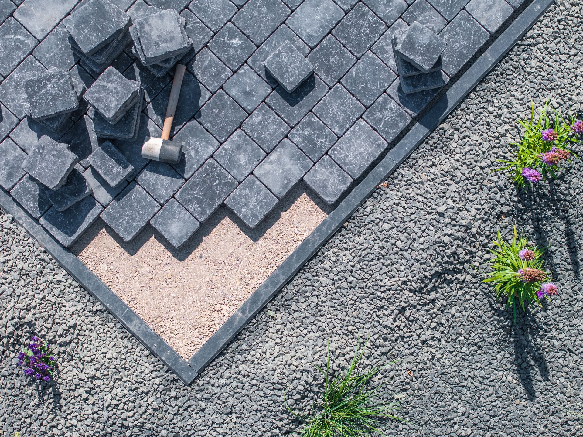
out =
[[(530, 119), (518, 120), (524, 133), (520, 142), (512, 144), (514, 159), (498, 160), (506, 166), (496, 170), (510, 170), (512, 180), (519, 187), (535, 185), (541, 179), (557, 179), (560, 166), (577, 157), (568, 148), (583, 139), (583, 121), (571, 117), (567, 123), (559, 111), (554, 111), (554, 118), (549, 118), (548, 103), (538, 111), (533, 104)], [(537, 120), (535, 112), (538, 112)]]

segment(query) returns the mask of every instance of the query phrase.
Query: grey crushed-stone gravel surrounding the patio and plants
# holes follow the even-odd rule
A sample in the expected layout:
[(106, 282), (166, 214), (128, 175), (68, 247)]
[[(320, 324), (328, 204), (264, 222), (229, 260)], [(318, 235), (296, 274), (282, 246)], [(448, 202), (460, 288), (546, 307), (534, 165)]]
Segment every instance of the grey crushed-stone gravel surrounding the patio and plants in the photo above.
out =
[[(280, 436), (314, 396), (329, 340), (346, 362), (402, 358), (388, 435), (570, 436), (583, 410), (579, 242), (582, 165), (518, 193), (490, 173), (531, 99), (583, 115), (579, 0), (561, 1), (191, 387), (185, 387), (1, 215), (0, 430), (23, 437)], [(580, 151), (583, 155), (583, 151)], [(480, 281), (497, 229), (550, 245), (558, 299), (519, 317)], [(57, 383), (27, 385), (16, 354), (36, 333), (58, 345)], [(303, 400), (302, 400), (303, 399)], [(583, 425), (583, 424), (582, 424)]]

